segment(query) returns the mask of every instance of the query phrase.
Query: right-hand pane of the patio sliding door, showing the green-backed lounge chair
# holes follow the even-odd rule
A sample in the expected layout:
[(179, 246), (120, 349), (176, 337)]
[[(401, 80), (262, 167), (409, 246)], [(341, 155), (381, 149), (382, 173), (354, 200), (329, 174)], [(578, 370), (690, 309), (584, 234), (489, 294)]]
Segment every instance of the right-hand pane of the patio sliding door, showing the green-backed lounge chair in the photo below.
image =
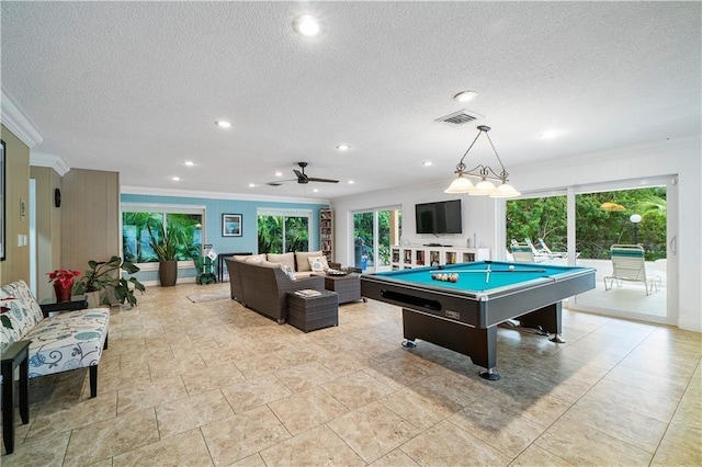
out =
[[(596, 288), (574, 307), (671, 323), (669, 271), (675, 270), (672, 179), (582, 187), (574, 192), (577, 265), (597, 270)], [(671, 251), (675, 253), (675, 251)], [(622, 257), (624, 254), (624, 257)]]

